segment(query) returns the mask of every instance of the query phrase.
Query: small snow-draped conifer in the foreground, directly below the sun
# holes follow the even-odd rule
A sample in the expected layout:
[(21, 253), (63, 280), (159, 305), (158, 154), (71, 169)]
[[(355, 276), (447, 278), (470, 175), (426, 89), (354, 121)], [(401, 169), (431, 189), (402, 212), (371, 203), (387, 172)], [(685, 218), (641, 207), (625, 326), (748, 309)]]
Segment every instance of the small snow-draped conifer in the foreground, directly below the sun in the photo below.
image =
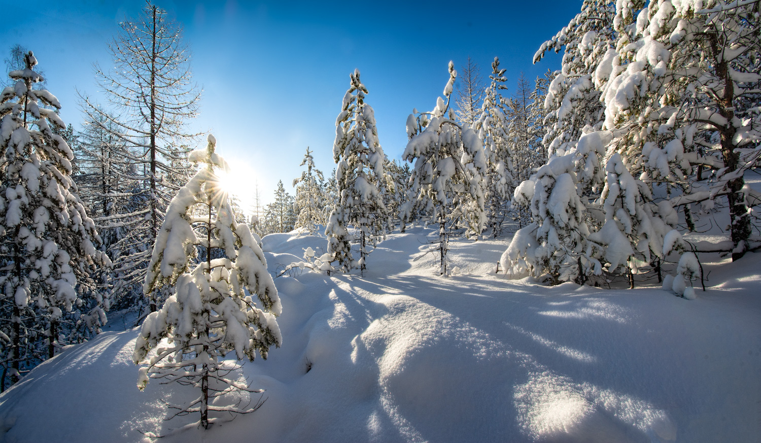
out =
[[(209, 135), (208, 147), (190, 155), (202, 167), (167, 208), (145, 293), (170, 285), (174, 294), (145, 318), (133, 355), (135, 365), (147, 359), (139, 370), (141, 390), (149, 378), (199, 388), (199, 397), (169, 406), (177, 410), (173, 416), (200, 413), (200, 425), (207, 429), (215, 421), (209, 411), (250, 413), (261, 404), (249, 408), (213, 401), (235, 390), (260, 392), (229, 378), (232, 368), (220, 359), (233, 351), (238, 360), (253, 361), (256, 352), (266, 359), (271, 346), (282, 344), (275, 318), (282, 311), (277, 288), (260, 245), (233, 217), (215, 173), (228, 165), (215, 154), (215, 143)], [(197, 247), (207, 251), (205, 260), (196, 260)], [(213, 250), (221, 258), (212, 259)], [(158, 346), (162, 339), (168, 339), (167, 346)], [(155, 354), (149, 355), (152, 348)]]

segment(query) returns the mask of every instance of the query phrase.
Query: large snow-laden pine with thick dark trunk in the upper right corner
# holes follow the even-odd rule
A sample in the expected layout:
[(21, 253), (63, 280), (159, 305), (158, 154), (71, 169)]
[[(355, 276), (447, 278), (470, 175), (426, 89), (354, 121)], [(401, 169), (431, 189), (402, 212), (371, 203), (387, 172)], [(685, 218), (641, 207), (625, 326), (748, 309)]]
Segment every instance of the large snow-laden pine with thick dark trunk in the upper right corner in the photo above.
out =
[[(673, 203), (727, 196), (737, 260), (750, 247), (759, 202), (743, 173), (759, 158), (761, 2), (629, 3), (616, 11), (618, 51), (598, 69), (610, 73), (605, 126), (622, 133), (614, 144), (632, 173), (683, 191)], [(705, 132), (718, 135), (713, 152), (696, 143)], [(717, 170), (709, 190), (689, 180), (696, 164)]]

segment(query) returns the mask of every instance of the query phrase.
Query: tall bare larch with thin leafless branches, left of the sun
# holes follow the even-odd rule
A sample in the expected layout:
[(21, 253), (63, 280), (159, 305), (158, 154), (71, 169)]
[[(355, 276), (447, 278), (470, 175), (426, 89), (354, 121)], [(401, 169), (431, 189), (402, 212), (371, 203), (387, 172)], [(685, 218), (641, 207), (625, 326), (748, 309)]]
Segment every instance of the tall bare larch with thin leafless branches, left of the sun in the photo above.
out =
[[(116, 271), (127, 290), (140, 285), (145, 277), (164, 210), (189, 176), (187, 152), (196, 135), (187, 132), (185, 126), (196, 116), (200, 91), (192, 83), (182, 27), (167, 20), (166, 14), (157, 5), (146, 3), (137, 21), (121, 23), (121, 32), (109, 45), (113, 70), (95, 65), (98, 84), (113, 107), (111, 112), (80, 94), (88, 120), (123, 140), (125, 159), (136, 166), (133, 179), (141, 183), (140, 189), (123, 192), (145, 198), (145, 207), (137, 212), (100, 220), (113, 224), (142, 219), (132, 226), (125, 240), (130, 252), (116, 260)], [(155, 294), (148, 299), (151, 311), (155, 311)]]

